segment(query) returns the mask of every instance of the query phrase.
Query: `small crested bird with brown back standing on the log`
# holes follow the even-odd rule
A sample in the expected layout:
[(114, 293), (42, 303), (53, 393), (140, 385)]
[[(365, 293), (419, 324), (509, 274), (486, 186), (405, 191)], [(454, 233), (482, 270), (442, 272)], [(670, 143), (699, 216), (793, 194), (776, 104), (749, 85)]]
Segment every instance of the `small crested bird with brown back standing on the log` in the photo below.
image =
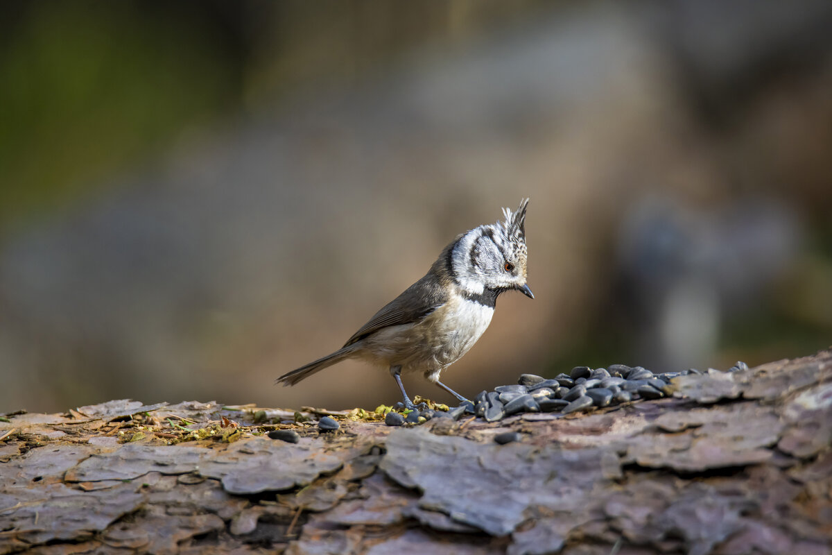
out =
[(428, 382), (468, 401), (439, 376), (488, 328), (501, 293), (518, 290), (534, 299), (526, 283), (527, 206), (523, 199), (516, 211), (503, 208), (503, 221), (457, 235), (422, 279), (379, 310), (343, 347), (276, 382), (295, 385), (341, 360), (358, 358), (389, 369), (406, 409), (416, 407), (401, 374), (421, 372)]

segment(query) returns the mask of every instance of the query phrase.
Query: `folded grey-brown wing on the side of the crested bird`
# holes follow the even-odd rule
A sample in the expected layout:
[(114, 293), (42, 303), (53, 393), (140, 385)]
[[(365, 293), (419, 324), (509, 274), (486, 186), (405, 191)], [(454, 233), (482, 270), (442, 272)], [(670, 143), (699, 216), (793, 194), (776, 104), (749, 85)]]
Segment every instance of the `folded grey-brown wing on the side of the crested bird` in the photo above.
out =
[(430, 273), (391, 300), (350, 337), (344, 347), (391, 325), (413, 324), (444, 305), (448, 293), (439, 278)]

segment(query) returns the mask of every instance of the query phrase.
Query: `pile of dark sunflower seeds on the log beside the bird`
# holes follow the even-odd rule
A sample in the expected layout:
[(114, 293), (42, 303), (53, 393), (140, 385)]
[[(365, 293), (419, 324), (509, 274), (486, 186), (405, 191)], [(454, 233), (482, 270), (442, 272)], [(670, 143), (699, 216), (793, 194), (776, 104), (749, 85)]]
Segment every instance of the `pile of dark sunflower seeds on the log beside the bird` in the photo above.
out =
[[(748, 369), (744, 362), (737, 362), (729, 372)], [(716, 370), (709, 370), (714, 372)], [(520, 413), (569, 414), (610, 405), (629, 403), (637, 399), (661, 399), (672, 396), (671, 379), (686, 374), (703, 374), (700, 370), (653, 374), (641, 366), (611, 364), (607, 368), (592, 369), (576, 366), (569, 374), (557, 374), (545, 379), (535, 374), (521, 374), (517, 384), (498, 385), (493, 391), (482, 391), (474, 402), (464, 402), (448, 412), (424, 410), (418, 413), (424, 419), (451, 417), (459, 419), (463, 414), (475, 414), (488, 422), (496, 422)], [(416, 416), (414, 414), (413, 416)], [(404, 424), (404, 421), (401, 423)], [(401, 425), (397, 419), (388, 425)]]

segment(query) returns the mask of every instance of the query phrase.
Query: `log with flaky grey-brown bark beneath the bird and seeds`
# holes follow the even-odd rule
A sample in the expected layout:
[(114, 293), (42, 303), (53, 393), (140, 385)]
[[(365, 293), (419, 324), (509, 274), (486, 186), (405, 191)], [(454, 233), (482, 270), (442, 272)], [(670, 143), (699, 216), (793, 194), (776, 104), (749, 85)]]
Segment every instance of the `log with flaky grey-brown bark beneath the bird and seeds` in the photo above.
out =
[(0, 553), (832, 553), (832, 351), (674, 386), (401, 428), (197, 402), (7, 414)]

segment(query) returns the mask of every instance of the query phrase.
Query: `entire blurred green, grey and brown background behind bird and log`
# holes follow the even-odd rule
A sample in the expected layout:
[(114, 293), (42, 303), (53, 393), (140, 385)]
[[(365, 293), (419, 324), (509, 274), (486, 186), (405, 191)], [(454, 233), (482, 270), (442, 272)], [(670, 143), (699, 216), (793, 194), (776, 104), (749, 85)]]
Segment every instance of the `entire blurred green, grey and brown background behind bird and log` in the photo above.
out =
[(392, 403), (361, 363), (273, 380), (523, 196), (536, 299), (462, 394), (832, 344), (830, 2), (0, 10), (0, 413)]

